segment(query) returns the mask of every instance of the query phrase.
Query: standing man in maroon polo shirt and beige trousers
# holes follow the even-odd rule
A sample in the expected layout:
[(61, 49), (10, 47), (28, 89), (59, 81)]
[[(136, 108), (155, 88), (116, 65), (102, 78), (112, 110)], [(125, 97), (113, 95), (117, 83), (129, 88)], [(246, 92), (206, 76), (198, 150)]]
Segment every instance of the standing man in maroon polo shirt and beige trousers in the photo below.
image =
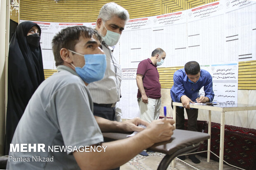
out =
[(157, 48), (150, 58), (141, 61), (137, 69), (137, 100), (140, 107), (140, 119), (151, 123), (159, 119), (161, 107), (161, 84), (157, 66), (164, 63), (166, 53)]

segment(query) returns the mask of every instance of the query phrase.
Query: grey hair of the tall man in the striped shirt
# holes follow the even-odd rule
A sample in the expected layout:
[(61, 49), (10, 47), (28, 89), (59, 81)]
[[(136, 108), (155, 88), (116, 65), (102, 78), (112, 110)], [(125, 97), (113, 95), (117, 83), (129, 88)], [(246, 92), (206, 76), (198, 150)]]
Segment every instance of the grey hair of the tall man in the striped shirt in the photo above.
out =
[(114, 2), (109, 2), (102, 6), (98, 19), (101, 18), (105, 23), (113, 16), (118, 16), (120, 19), (123, 19), (125, 21), (129, 19), (128, 11)]

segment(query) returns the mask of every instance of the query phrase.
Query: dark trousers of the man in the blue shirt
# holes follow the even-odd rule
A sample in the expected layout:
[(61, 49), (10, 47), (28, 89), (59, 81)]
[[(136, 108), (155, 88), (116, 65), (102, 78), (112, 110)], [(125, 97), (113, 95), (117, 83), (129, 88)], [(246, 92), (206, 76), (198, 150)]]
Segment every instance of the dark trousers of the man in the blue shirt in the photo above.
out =
[[(171, 107), (173, 108), (173, 101), (171, 102)], [(187, 130), (197, 131), (197, 116), (198, 109), (186, 109), (187, 112)], [(185, 128), (185, 117), (184, 117), (184, 107), (176, 106), (176, 129)]]

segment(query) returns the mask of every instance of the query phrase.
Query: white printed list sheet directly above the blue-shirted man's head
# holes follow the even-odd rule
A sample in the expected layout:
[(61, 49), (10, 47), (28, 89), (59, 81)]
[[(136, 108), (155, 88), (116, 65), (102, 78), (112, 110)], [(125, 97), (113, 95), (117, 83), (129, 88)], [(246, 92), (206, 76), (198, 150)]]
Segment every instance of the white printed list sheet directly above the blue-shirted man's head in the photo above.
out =
[(223, 1), (187, 10), (187, 62), (223, 62)]

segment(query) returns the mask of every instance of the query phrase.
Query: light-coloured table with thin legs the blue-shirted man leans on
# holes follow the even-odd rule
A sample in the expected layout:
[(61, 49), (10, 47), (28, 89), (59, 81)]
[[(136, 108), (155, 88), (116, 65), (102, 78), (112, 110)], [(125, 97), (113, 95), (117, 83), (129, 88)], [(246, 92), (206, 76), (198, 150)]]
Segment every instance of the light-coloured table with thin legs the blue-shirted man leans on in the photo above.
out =
[[(176, 106), (183, 107), (182, 103), (173, 102), (173, 113), (176, 113)], [(223, 170), (225, 112), (256, 110), (256, 105), (220, 102), (220, 103), (218, 103), (218, 105), (191, 105), (190, 104), (190, 108), (209, 110), (209, 120), (208, 120), (209, 121), (208, 134), (209, 135), (211, 135), (211, 111), (221, 112), (219, 170)], [(173, 119), (176, 120), (176, 114), (173, 114)], [(210, 162), (210, 153), (211, 153), (211, 139), (208, 140), (207, 162)], [(236, 168), (238, 168), (238, 167), (236, 167)]]

